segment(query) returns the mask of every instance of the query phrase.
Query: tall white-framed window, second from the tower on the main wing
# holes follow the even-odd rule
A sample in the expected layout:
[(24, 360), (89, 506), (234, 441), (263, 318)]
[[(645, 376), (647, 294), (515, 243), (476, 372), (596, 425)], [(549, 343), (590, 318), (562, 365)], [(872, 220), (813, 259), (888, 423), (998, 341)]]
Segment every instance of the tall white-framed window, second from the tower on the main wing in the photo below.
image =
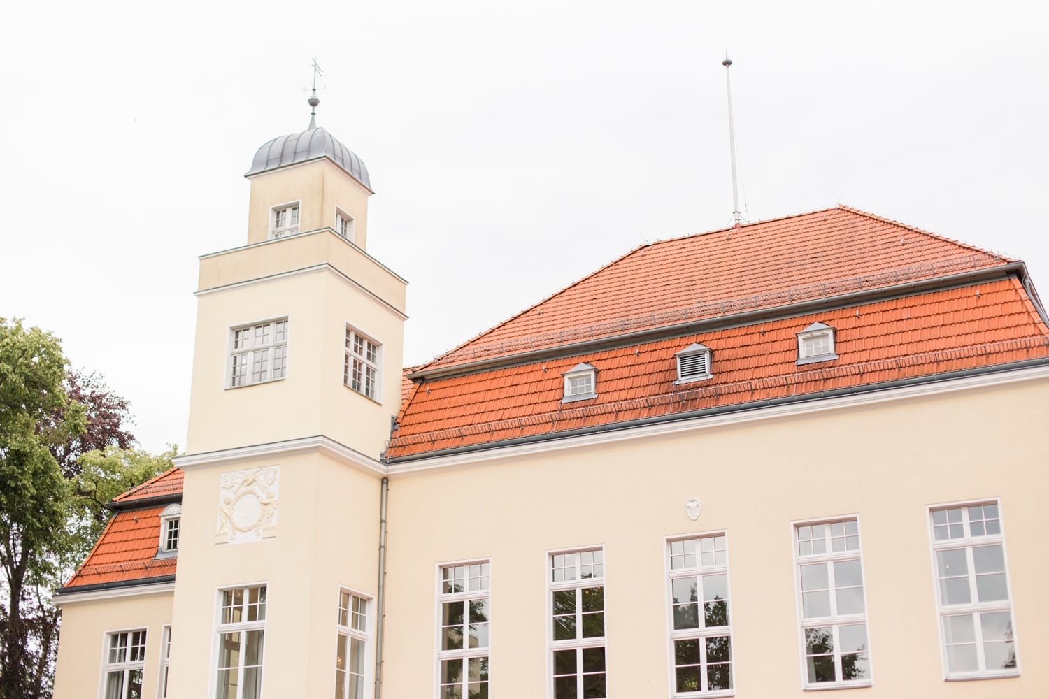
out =
[(555, 699), (605, 697), (604, 550), (550, 556)]

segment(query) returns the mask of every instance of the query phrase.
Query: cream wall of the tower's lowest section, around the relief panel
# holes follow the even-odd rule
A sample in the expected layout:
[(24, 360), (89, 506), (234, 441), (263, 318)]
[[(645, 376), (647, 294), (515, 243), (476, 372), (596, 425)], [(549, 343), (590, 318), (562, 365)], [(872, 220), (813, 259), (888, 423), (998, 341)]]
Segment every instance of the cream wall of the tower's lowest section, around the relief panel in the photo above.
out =
[[(277, 536), (216, 544), (220, 474), (274, 464)], [(260, 583), (267, 586), (263, 696), (334, 695), (339, 588), (376, 593), (379, 484), (316, 453), (187, 469), (172, 697), (211, 696), (218, 590)]]

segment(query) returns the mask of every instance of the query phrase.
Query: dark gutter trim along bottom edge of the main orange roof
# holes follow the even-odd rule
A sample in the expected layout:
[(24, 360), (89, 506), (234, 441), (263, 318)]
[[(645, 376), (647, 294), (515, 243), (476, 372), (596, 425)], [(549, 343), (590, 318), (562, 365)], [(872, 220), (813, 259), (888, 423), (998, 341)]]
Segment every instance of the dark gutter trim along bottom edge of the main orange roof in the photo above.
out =
[(761, 408), (772, 408), (774, 406), (808, 402), (810, 400), (818, 400), (821, 398), (835, 398), (847, 395), (874, 393), (876, 391), (885, 391), (887, 389), (902, 388), (904, 386), (920, 386), (922, 384), (933, 384), (935, 381), (944, 381), (944, 380), (949, 380), (951, 378), (964, 378), (966, 376), (979, 376), (983, 374), (1014, 371), (1018, 369), (1029, 369), (1032, 367), (1043, 367), (1043, 366), (1049, 366), (1049, 356), (1037, 357), (1034, 359), (1022, 359), (1020, 362), (1010, 362), (1008, 364), (994, 365), (990, 367), (959, 369), (956, 371), (926, 374), (924, 376), (912, 376), (911, 378), (895, 378), (891, 381), (869, 384), (866, 386), (852, 386), (840, 389), (831, 389), (828, 391), (813, 391), (812, 393), (805, 393), (801, 395), (783, 396), (779, 398), (769, 398), (766, 400), (754, 400), (750, 402), (742, 402), (731, 406), (704, 408), (702, 410), (690, 410), (682, 413), (669, 413), (667, 415), (643, 417), (634, 420), (626, 420), (623, 422), (608, 422), (607, 424), (595, 424), (588, 428), (577, 428), (575, 430), (564, 430), (562, 432), (550, 432), (545, 434), (528, 435), (526, 437), (512, 437), (509, 439), (498, 439), (495, 441), (483, 442), (479, 444), (468, 444), (465, 446), (450, 446), (448, 449), (434, 450), (432, 452), (421, 452), (419, 454), (412, 454), (408, 456), (397, 456), (391, 458), (385, 458), (383, 459), (383, 462), (387, 464), (406, 463), (409, 461), (419, 461), (422, 459), (430, 459), (438, 456), (453, 456), (456, 454), (481, 452), (493, 449), (499, 449), (502, 446), (517, 446), (520, 444), (531, 444), (535, 442), (552, 441), (555, 439), (566, 439), (569, 437), (579, 437), (583, 435), (599, 434), (602, 432), (628, 430), (630, 428), (639, 428), (649, 424), (659, 424), (663, 422), (678, 422), (681, 420), (688, 420), (698, 417), (708, 417), (711, 415), (724, 415), (727, 413), (742, 413), (745, 411), (758, 410)]

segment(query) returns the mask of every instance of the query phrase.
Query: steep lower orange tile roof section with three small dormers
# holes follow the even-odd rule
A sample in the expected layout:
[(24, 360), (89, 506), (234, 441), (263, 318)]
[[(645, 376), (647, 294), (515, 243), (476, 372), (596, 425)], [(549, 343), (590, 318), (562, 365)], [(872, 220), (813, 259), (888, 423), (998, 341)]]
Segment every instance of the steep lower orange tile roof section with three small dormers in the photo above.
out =
[[(795, 333), (814, 322), (836, 329), (838, 358), (798, 366)], [(673, 354), (693, 342), (712, 349), (713, 376), (676, 385)], [(902, 299), (426, 378), (402, 409), (386, 457), (397, 460), (520, 437), (558, 436), (576, 429), (812, 396), (1036, 357), (1049, 357), (1049, 328), (1020, 281), (1006, 277)], [(597, 368), (598, 395), (592, 400), (562, 403), (561, 372), (580, 362)]]

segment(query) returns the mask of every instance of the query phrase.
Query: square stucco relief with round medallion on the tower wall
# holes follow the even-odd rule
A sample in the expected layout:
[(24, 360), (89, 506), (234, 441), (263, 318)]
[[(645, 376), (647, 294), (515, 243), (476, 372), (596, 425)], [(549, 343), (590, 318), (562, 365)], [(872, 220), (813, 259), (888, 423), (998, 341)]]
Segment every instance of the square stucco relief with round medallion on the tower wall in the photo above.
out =
[(215, 540), (245, 544), (276, 537), (279, 485), (280, 466), (223, 473)]

